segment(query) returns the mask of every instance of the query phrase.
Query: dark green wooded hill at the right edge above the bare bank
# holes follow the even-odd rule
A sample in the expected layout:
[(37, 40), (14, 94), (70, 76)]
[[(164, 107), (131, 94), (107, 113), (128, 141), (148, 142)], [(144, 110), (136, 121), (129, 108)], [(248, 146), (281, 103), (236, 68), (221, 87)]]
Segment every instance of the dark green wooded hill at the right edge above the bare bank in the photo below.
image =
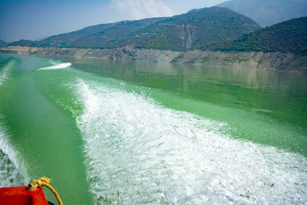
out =
[(287, 20), (242, 37), (202, 46), (202, 50), (307, 52), (307, 16)]

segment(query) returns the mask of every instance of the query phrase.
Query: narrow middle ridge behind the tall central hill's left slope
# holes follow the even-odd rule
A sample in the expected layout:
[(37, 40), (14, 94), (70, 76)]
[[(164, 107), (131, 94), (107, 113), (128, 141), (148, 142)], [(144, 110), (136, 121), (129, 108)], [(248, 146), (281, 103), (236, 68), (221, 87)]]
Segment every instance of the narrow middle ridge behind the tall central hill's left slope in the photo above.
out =
[(166, 17), (146, 18), (142, 20), (121, 22), (113, 27), (105, 29), (104, 31), (92, 35), (87, 35), (83, 38), (79, 38), (78, 40), (75, 40), (74, 42), (68, 44), (68, 46), (79, 48), (93, 48), (101, 46), (110, 42), (111, 40), (123, 38), (130, 33), (136, 32), (142, 28), (145, 28), (151, 24), (155, 24), (165, 19)]

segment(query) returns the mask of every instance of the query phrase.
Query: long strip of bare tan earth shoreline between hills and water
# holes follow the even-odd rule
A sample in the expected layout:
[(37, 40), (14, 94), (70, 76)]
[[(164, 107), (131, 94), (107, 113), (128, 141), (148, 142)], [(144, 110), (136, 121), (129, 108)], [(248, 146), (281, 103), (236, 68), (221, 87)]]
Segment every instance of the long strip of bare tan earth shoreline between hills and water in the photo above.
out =
[(0, 54), (39, 57), (87, 57), (113, 60), (149, 60), (173, 64), (204, 65), (286, 71), (307, 74), (307, 55), (280, 52), (220, 52), (220, 51), (165, 51), (124, 47), (119, 49), (36, 48), (10, 46), (0, 48)]

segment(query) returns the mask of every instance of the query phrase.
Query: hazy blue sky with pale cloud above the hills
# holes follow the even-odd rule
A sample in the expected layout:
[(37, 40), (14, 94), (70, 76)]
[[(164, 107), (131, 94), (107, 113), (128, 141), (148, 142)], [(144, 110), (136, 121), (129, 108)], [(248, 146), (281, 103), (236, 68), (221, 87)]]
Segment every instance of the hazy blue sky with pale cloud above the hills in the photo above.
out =
[(0, 0), (0, 39), (36, 40), (97, 24), (182, 14), (225, 1)]

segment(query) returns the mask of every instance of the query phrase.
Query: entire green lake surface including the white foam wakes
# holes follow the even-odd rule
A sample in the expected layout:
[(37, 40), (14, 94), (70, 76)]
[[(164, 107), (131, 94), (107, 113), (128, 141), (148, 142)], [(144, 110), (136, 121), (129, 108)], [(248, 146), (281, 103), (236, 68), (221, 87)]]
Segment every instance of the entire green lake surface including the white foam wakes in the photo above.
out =
[(47, 176), (64, 204), (305, 204), (306, 157), (307, 75), (0, 55), (0, 187)]

